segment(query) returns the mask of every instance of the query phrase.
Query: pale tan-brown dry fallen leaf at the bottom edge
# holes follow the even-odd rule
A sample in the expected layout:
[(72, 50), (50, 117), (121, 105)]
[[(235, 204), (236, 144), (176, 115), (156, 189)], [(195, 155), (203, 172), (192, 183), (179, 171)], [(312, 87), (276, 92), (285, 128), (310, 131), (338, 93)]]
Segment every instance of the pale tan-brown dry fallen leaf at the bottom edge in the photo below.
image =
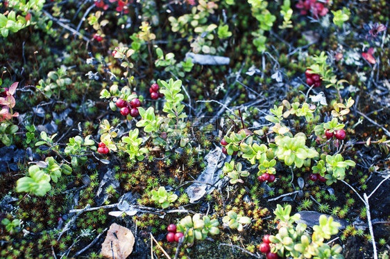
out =
[(134, 235), (130, 229), (114, 223), (101, 244), (101, 255), (105, 258), (114, 258), (113, 252), (115, 259), (126, 259), (133, 251), (134, 242)]

